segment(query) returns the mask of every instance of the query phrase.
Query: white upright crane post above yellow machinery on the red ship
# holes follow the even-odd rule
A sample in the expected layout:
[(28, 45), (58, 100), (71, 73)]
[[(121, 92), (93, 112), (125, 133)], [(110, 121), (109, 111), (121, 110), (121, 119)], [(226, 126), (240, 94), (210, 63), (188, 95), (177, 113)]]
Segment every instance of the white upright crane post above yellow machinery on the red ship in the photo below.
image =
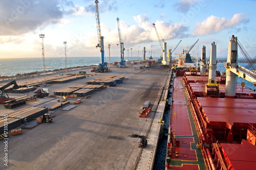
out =
[(217, 67), (217, 54), (216, 44), (211, 43), (210, 48), (210, 61), (209, 61), (209, 79), (216, 79), (216, 67)]

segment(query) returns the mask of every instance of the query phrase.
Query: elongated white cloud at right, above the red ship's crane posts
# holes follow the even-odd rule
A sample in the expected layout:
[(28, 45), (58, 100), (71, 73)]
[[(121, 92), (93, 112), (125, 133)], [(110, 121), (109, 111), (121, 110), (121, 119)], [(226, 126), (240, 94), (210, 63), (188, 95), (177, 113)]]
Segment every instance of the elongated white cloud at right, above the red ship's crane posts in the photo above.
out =
[(211, 15), (204, 21), (196, 23), (196, 28), (192, 36), (214, 34), (221, 30), (238, 26), (243, 22), (248, 22), (248, 18), (242, 13), (234, 14), (231, 19)]

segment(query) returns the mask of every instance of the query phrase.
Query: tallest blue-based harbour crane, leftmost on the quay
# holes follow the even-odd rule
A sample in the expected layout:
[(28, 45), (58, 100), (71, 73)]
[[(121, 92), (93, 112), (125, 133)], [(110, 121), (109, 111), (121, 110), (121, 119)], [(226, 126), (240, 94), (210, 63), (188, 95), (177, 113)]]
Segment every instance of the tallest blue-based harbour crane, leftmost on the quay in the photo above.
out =
[(98, 0), (95, 0), (96, 4), (96, 23), (97, 23), (97, 32), (98, 32), (98, 44), (96, 45), (96, 48), (100, 48), (101, 52), (101, 63), (99, 64), (98, 70), (96, 72), (108, 72), (108, 66), (106, 62), (104, 62), (104, 42), (103, 42), (103, 36), (101, 36), (100, 31), (100, 21), (99, 21), (99, 8), (98, 8)]

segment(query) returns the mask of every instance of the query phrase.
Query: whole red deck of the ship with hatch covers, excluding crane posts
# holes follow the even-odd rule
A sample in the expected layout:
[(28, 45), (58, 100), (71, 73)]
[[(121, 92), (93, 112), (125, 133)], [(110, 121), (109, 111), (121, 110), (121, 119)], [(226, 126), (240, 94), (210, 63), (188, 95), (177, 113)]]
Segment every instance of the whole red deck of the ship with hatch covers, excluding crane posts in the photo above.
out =
[[(248, 138), (247, 129), (255, 128), (256, 124), (255, 92), (237, 85), (236, 99), (218, 98), (218, 96), (216, 98), (203, 98), (201, 95), (203, 95), (206, 84), (204, 79), (204, 76), (186, 76), (178, 77), (174, 81), (174, 103), (170, 126), (176, 134), (176, 148), (172, 147), (172, 149), (176, 149), (178, 156), (172, 155), (168, 169), (205, 169), (205, 167), (200, 167), (200, 163), (203, 164), (203, 157), (207, 162), (205, 165), (211, 168), (218, 166), (222, 169), (233, 165), (236, 167), (235, 169), (252, 169), (256, 162), (254, 158), (256, 148), (255, 145), (251, 144), (251, 141), (249, 143), (245, 139)], [(186, 88), (183, 88), (183, 80)], [(221, 84), (220, 88), (221, 93), (225, 94), (225, 85)], [(187, 97), (189, 103), (187, 103)], [(193, 109), (193, 116), (191, 116), (190, 108)], [(197, 120), (197, 127), (200, 125), (198, 131), (194, 130), (193, 117)], [(199, 131), (200, 143), (203, 141), (204, 154), (202, 154), (201, 149), (197, 150), (195, 147), (198, 139), (195, 134)], [(193, 135), (190, 136), (191, 132)], [(188, 137), (191, 137), (190, 141), (187, 139)], [(172, 139), (170, 141), (173, 142)], [(178, 145), (180, 143), (180, 146), (177, 146), (177, 141), (179, 141)], [(190, 145), (184, 144), (188, 142)], [(214, 153), (209, 151), (212, 145), (214, 146)], [(244, 155), (245, 153), (246, 155)], [(212, 159), (212, 155), (215, 155), (214, 159)], [(190, 157), (189, 162), (183, 157)], [(208, 157), (210, 159), (207, 159)], [(202, 162), (199, 161), (200, 158)]]

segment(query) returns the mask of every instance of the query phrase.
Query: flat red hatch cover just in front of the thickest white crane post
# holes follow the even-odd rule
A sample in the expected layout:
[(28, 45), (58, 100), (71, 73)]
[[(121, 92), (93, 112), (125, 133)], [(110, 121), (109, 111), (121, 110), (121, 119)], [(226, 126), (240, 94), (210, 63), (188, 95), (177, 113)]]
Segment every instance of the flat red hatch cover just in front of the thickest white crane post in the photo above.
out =
[(251, 99), (197, 98), (202, 112), (207, 116), (209, 126), (215, 123), (256, 123), (256, 101)]

